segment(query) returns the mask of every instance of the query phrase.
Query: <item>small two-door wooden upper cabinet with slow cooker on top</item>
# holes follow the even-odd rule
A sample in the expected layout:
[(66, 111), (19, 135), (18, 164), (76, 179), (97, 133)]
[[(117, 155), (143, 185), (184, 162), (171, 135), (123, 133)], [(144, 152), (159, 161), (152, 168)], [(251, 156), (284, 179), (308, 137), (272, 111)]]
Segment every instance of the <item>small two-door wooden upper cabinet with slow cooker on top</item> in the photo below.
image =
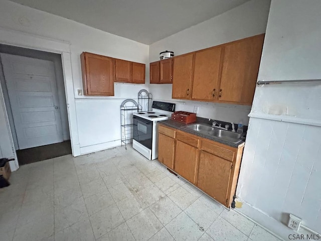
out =
[(171, 84), (172, 83), (173, 59), (164, 59), (149, 64), (149, 83)]

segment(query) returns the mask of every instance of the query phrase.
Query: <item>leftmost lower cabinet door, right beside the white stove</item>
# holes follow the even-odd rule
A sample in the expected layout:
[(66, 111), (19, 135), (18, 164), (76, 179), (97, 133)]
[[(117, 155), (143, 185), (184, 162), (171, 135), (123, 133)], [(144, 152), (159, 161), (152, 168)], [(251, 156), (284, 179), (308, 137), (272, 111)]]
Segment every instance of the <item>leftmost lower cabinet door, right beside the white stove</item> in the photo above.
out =
[(158, 161), (174, 169), (174, 138), (158, 134)]

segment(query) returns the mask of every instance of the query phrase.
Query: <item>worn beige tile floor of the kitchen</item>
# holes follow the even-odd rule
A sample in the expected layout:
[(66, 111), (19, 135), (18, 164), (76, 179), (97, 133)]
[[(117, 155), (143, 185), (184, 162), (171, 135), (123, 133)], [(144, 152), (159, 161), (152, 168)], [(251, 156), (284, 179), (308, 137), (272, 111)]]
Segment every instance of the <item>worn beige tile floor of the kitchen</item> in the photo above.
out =
[(279, 240), (130, 147), (28, 164), (10, 182), (2, 241)]

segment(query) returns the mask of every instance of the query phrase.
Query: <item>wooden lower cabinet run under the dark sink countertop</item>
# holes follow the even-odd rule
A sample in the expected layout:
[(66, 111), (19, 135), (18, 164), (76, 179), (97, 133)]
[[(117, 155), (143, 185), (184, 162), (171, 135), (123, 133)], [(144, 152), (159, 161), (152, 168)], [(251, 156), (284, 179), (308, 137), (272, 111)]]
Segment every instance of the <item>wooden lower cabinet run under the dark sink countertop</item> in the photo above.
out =
[(226, 207), (233, 201), (243, 148), (158, 126), (158, 161)]

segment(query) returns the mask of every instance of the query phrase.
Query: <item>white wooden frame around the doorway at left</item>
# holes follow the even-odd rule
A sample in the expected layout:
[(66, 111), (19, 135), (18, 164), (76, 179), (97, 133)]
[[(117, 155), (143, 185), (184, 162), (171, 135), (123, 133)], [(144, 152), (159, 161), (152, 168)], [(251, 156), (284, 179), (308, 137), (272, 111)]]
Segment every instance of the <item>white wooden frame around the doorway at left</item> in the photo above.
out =
[[(75, 95), (71, 68), (71, 51), (70, 43), (45, 38), (37, 35), (32, 35), (25, 32), (5, 29), (0, 27), (0, 43), (7, 44), (11, 46), (17, 46), (27, 49), (35, 49), (45, 52), (57, 53), (61, 55), (64, 85), (65, 85), (65, 95), (67, 102), (67, 115), (69, 124), (69, 133), (71, 141), (71, 150), (74, 157), (80, 156), (80, 145), (79, 145), (79, 135), (78, 135), (78, 125), (76, 116), (76, 105), (75, 105)], [(7, 109), (4, 101), (4, 95), (2, 86), (0, 86), (0, 98), (3, 101), (6, 124), (8, 127), (9, 136), (11, 139), (11, 145), (13, 147), (13, 156), (15, 157), (16, 170), (19, 168), (16, 152), (14, 151), (14, 141), (9, 126), (9, 117), (7, 114)], [(13, 170), (14, 171), (14, 170)]]

